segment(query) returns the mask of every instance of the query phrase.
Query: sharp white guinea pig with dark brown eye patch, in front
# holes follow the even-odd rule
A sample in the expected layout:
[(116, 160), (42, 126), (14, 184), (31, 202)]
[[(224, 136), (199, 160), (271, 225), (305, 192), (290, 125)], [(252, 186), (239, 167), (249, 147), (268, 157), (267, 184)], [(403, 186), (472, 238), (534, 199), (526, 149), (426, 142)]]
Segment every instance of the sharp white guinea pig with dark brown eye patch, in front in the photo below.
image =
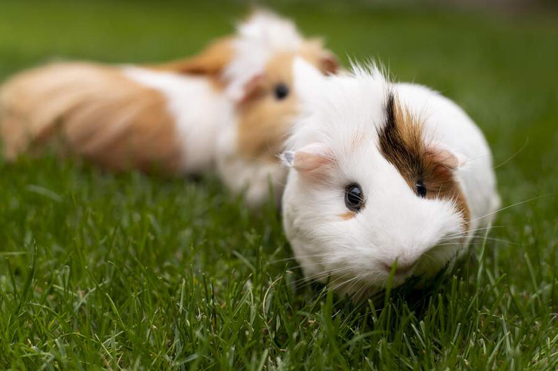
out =
[(287, 239), (306, 278), (362, 298), (432, 278), (499, 207), (492, 156), (458, 105), (375, 66), (294, 66), (303, 105), (282, 153)]

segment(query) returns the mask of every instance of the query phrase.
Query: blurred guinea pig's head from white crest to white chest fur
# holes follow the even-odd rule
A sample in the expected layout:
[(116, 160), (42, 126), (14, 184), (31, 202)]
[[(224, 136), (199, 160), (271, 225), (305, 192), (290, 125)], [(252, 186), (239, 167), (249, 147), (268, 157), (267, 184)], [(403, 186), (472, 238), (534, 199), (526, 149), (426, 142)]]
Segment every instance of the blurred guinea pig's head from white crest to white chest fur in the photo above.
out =
[(280, 200), (287, 174), (279, 155), (299, 113), (293, 66), (301, 58), (322, 75), (338, 62), (319, 39), (306, 39), (295, 25), (273, 13), (257, 11), (239, 24), (225, 67), (225, 95), (234, 102), (236, 125), (220, 133), (217, 166), (233, 192), (260, 206), (270, 198), (271, 183)]

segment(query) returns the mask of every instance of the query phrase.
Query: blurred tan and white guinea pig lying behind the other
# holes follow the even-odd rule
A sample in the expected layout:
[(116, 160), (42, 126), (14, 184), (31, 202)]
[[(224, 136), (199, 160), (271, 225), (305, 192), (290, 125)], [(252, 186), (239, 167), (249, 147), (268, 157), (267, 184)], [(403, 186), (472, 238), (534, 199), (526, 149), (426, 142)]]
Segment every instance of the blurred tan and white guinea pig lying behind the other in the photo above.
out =
[[(273, 172), (296, 113), (294, 56), (324, 74), (338, 67), (320, 40), (257, 10), (233, 36), (181, 61), (54, 63), (24, 71), (0, 89), (4, 155), (13, 160), (56, 137), (70, 153), (110, 169), (193, 174), (214, 167), (219, 142), (227, 146), (223, 164), (236, 156)], [(234, 191), (247, 185), (224, 178)], [(262, 202), (259, 197), (250, 202)]]

